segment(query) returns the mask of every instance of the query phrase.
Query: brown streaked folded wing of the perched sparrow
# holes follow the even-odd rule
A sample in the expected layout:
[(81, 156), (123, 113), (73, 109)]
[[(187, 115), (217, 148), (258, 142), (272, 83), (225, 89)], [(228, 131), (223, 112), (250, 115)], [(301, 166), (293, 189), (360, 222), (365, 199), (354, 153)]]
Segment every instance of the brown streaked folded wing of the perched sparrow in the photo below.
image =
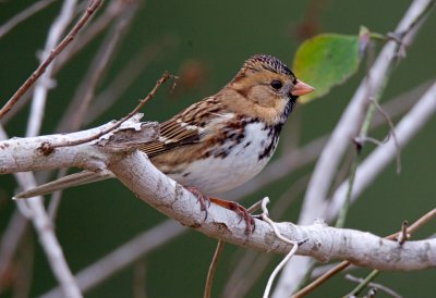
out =
[(160, 124), (159, 139), (144, 144), (140, 150), (154, 157), (175, 147), (199, 142), (211, 132), (210, 124), (228, 114), (215, 97), (209, 97)]

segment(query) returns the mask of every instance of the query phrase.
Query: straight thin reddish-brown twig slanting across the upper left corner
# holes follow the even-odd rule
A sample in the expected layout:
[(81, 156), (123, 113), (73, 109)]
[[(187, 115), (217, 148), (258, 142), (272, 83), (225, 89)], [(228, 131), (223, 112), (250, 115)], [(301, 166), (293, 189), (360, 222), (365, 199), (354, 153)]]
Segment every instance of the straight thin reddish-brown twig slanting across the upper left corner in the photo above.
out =
[(12, 107), (20, 100), (20, 98), (31, 88), (31, 86), (45, 73), (46, 69), (50, 65), (51, 61), (65, 49), (65, 47), (74, 39), (75, 35), (86, 24), (88, 18), (100, 5), (101, 0), (93, 0), (86, 9), (85, 14), (75, 24), (66, 37), (50, 52), (47, 59), (36, 69), (36, 71), (24, 82), (24, 84), (15, 91), (15, 94), (8, 100), (8, 102), (0, 110), (0, 119), (7, 114)]

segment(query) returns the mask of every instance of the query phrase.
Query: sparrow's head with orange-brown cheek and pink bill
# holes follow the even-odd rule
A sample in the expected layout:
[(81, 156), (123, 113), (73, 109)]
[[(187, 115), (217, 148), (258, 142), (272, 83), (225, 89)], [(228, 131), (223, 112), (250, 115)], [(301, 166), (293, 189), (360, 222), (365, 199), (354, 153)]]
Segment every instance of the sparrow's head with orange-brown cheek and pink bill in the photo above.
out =
[(228, 88), (238, 94), (234, 104), (270, 124), (284, 122), (298, 97), (314, 90), (280, 60), (266, 54), (246, 60)]

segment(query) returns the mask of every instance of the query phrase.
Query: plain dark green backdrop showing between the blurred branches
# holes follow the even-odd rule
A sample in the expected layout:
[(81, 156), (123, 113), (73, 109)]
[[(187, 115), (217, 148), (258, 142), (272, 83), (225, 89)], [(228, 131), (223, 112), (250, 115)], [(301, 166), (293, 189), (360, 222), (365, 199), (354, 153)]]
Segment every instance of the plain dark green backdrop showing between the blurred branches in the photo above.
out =
[[(27, 7), (31, 1), (2, 1), (0, 23)], [(109, 1), (107, 1), (109, 2)], [(319, 1), (318, 33), (358, 34), (360, 25), (372, 30), (392, 30), (411, 1)], [(136, 13), (128, 36), (104, 80), (109, 82), (130, 58), (146, 45), (160, 42), (162, 37), (173, 46), (162, 50), (140, 78), (122, 96), (122, 99), (93, 124), (119, 119), (136, 104), (154, 86), (164, 71), (178, 74), (183, 63), (195, 60), (204, 73), (197, 86), (169, 94), (169, 85), (146, 105), (146, 119), (164, 121), (207, 95), (219, 90), (239, 70), (242, 62), (254, 53), (279, 57), (289, 65), (296, 47), (302, 42), (295, 29), (307, 16), (308, 1), (204, 1), (204, 0), (149, 0)], [(38, 13), (20, 25), (13, 33), (0, 39), (0, 102), (3, 103), (24, 79), (35, 70), (35, 53), (41, 49), (47, 29), (57, 14), (60, 3)], [(316, 24), (313, 24), (316, 25)], [(395, 71), (384, 100), (400, 95), (426, 79), (435, 77), (436, 15), (433, 13), (408, 51), (407, 59)], [(59, 75), (58, 87), (50, 91), (44, 134), (50, 134), (74, 95), (77, 84), (86, 73), (98, 38), (76, 57)], [(300, 126), (301, 144), (331, 132), (348, 100), (355, 90), (364, 70), (346, 85), (332, 89), (324, 98), (300, 107), (284, 134), (292, 125)], [(296, 74), (298, 75), (298, 74)], [(311, 82), (307, 82), (311, 83)], [(316, 87), (316, 86), (315, 86)], [(10, 136), (23, 136), (28, 109), (23, 110), (5, 127)], [(89, 125), (90, 126), (90, 125)], [(352, 206), (348, 227), (387, 235), (400, 227), (404, 219), (413, 221), (434, 208), (436, 120), (432, 120), (403, 150), (402, 173), (396, 175), (391, 165)], [(375, 133), (383, 136), (384, 127)], [(371, 147), (371, 146), (368, 146)], [(366, 149), (367, 151), (368, 149)], [(272, 199), (296, 178), (310, 173), (312, 166), (293, 173), (255, 197), (246, 198), (250, 204), (268, 194)], [(0, 177), (0, 231), (4, 231), (14, 203), (10, 200), (15, 183), (12, 177)], [(57, 234), (74, 272), (93, 263), (120, 244), (166, 220), (164, 215), (137, 200), (117, 181), (93, 184), (64, 193), (57, 220)], [(295, 221), (300, 201), (286, 214)], [(434, 233), (431, 223), (416, 238)], [(36, 238), (36, 237), (35, 237)], [(201, 297), (204, 280), (216, 241), (202, 234), (190, 232), (144, 258), (146, 265), (146, 290), (149, 297)], [(56, 285), (56, 281), (38, 245), (35, 247), (35, 269), (32, 296), (38, 296)], [(220, 293), (232, 265), (238, 262), (235, 247), (227, 246), (218, 268), (215, 291)], [(275, 263), (279, 258), (275, 258)], [(269, 270), (258, 281), (247, 297), (259, 297)], [(360, 270), (356, 274), (366, 274)], [(414, 273), (383, 273), (377, 280), (401, 293), (404, 297), (433, 297), (434, 270)], [(86, 297), (131, 297), (133, 269), (90, 290)], [(354, 285), (335, 277), (311, 297), (338, 297)], [(5, 294), (1, 297), (9, 297)], [(379, 297), (383, 297), (380, 295)]]

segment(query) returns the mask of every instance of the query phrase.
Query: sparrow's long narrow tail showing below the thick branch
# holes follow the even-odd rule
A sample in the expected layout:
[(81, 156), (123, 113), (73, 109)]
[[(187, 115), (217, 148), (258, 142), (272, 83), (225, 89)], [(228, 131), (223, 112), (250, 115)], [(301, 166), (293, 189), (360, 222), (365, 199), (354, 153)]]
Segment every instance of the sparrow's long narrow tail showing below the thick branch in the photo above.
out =
[(92, 171), (83, 171), (75, 174), (71, 174), (59, 178), (57, 181), (52, 181), (43, 185), (39, 185), (35, 188), (31, 188), (26, 191), (17, 194), (14, 196), (14, 199), (27, 199), (35, 196), (43, 196), (47, 194), (51, 194), (58, 190), (62, 190), (65, 188), (70, 188), (73, 186), (78, 186), (83, 184), (88, 184), (93, 182), (104, 181), (108, 178), (112, 178), (113, 174), (110, 171), (104, 171), (100, 173), (92, 172)]

